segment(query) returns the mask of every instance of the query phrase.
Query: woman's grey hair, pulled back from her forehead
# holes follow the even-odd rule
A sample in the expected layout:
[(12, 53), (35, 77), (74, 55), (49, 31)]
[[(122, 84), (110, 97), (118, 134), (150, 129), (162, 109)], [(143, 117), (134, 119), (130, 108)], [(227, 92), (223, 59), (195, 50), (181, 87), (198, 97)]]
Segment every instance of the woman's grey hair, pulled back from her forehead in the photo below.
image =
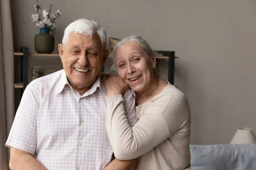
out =
[(132, 35), (129, 37), (125, 37), (121, 41), (119, 41), (116, 46), (113, 49), (113, 52), (111, 53), (111, 57), (113, 57), (113, 65), (111, 66), (111, 70), (116, 71), (116, 63), (115, 63), (115, 56), (116, 56), (116, 50), (122, 46), (125, 45), (128, 42), (135, 42), (137, 45), (145, 52), (146, 56), (148, 58), (151, 58), (154, 56), (155, 52), (152, 50), (152, 48), (148, 45), (148, 42), (146, 42), (142, 37), (138, 35)]

